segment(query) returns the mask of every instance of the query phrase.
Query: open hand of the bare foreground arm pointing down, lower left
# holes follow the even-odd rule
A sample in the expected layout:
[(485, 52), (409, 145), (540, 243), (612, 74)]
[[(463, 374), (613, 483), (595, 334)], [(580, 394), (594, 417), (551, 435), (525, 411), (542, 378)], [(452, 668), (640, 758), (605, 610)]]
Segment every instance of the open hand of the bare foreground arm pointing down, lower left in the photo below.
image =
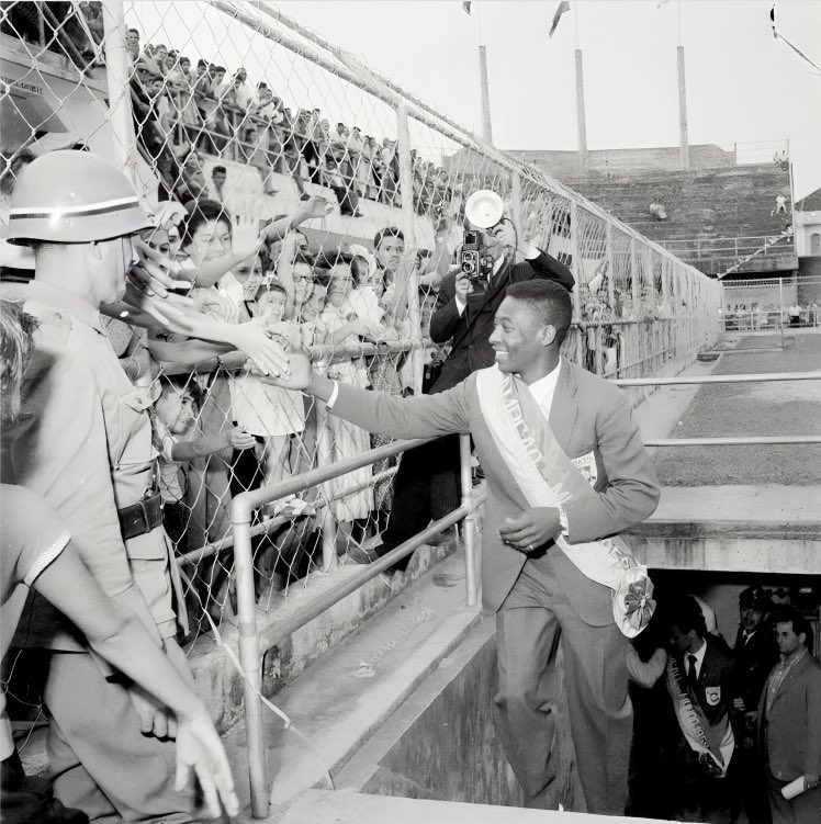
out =
[(200, 782), (207, 814), (218, 819), (220, 802), (228, 815), (239, 812), (239, 799), (223, 743), (207, 715), (180, 719), (177, 732), (177, 780), (175, 789), (182, 792), (193, 776)]

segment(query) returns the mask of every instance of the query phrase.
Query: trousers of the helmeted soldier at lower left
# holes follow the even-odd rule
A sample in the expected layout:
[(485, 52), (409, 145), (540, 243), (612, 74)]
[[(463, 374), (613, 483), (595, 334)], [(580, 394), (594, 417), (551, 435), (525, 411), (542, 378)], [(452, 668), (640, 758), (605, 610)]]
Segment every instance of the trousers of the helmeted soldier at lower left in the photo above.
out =
[(92, 822), (193, 821), (173, 789), (175, 743), (143, 735), (127, 690), (85, 653), (54, 653), (45, 686), (54, 793)]

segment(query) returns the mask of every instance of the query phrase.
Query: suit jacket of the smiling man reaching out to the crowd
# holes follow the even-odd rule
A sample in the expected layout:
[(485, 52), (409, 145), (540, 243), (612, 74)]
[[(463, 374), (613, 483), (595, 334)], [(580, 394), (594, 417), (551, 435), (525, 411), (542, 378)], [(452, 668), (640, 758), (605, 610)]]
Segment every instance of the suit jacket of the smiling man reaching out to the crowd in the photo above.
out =
[[(339, 386), (334, 415), (394, 438), (429, 438), (471, 432), (487, 479), (482, 541), (483, 608), (496, 612), (527, 560), (503, 544), (499, 524), (528, 504), (499, 454), (484, 421), (476, 373), (452, 390), (415, 398)], [(571, 543), (612, 535), (650, 516), (660, 487), (625, 394), (612, 383), (562, 359), (550, 426), (570, 458), (595, 460), (597, 500), (565, 506)], [(551, 542), (552, 543), (552, 542)], [(586, 578), (555, 546), (548, 550), (556, 579), (578, 616), (593, 627), (612, 622), (610, 590)]]

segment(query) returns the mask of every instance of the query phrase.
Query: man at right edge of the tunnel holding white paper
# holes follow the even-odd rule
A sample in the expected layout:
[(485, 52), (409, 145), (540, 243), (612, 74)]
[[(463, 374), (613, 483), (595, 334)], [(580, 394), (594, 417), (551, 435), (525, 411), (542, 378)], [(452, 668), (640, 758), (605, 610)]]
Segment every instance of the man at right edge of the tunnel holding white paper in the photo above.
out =
[[(809, 647), (812, 631), (795, 610), (776, 614), (780, 661), (769, 674), (758, 704), (758, 736), (773, 824), (821, 821), (821, 665)], [(805, 790), (791, 800), (781, 789), (803, 776)]]

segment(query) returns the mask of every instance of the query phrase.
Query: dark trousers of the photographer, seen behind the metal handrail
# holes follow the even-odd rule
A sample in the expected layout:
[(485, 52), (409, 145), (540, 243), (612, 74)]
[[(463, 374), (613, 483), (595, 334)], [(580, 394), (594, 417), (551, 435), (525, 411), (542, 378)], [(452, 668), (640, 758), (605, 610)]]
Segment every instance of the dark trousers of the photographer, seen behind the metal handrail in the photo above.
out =
[[(420, 532), (461, 501), (459, 436), (449, 434), (402, 455), (393, 486), (393, 506), (382, 533), (382, 554)], [(405, 568), (408, 558), (397, 566)], [(404, 564), (404, 565), (403, 565)]]

